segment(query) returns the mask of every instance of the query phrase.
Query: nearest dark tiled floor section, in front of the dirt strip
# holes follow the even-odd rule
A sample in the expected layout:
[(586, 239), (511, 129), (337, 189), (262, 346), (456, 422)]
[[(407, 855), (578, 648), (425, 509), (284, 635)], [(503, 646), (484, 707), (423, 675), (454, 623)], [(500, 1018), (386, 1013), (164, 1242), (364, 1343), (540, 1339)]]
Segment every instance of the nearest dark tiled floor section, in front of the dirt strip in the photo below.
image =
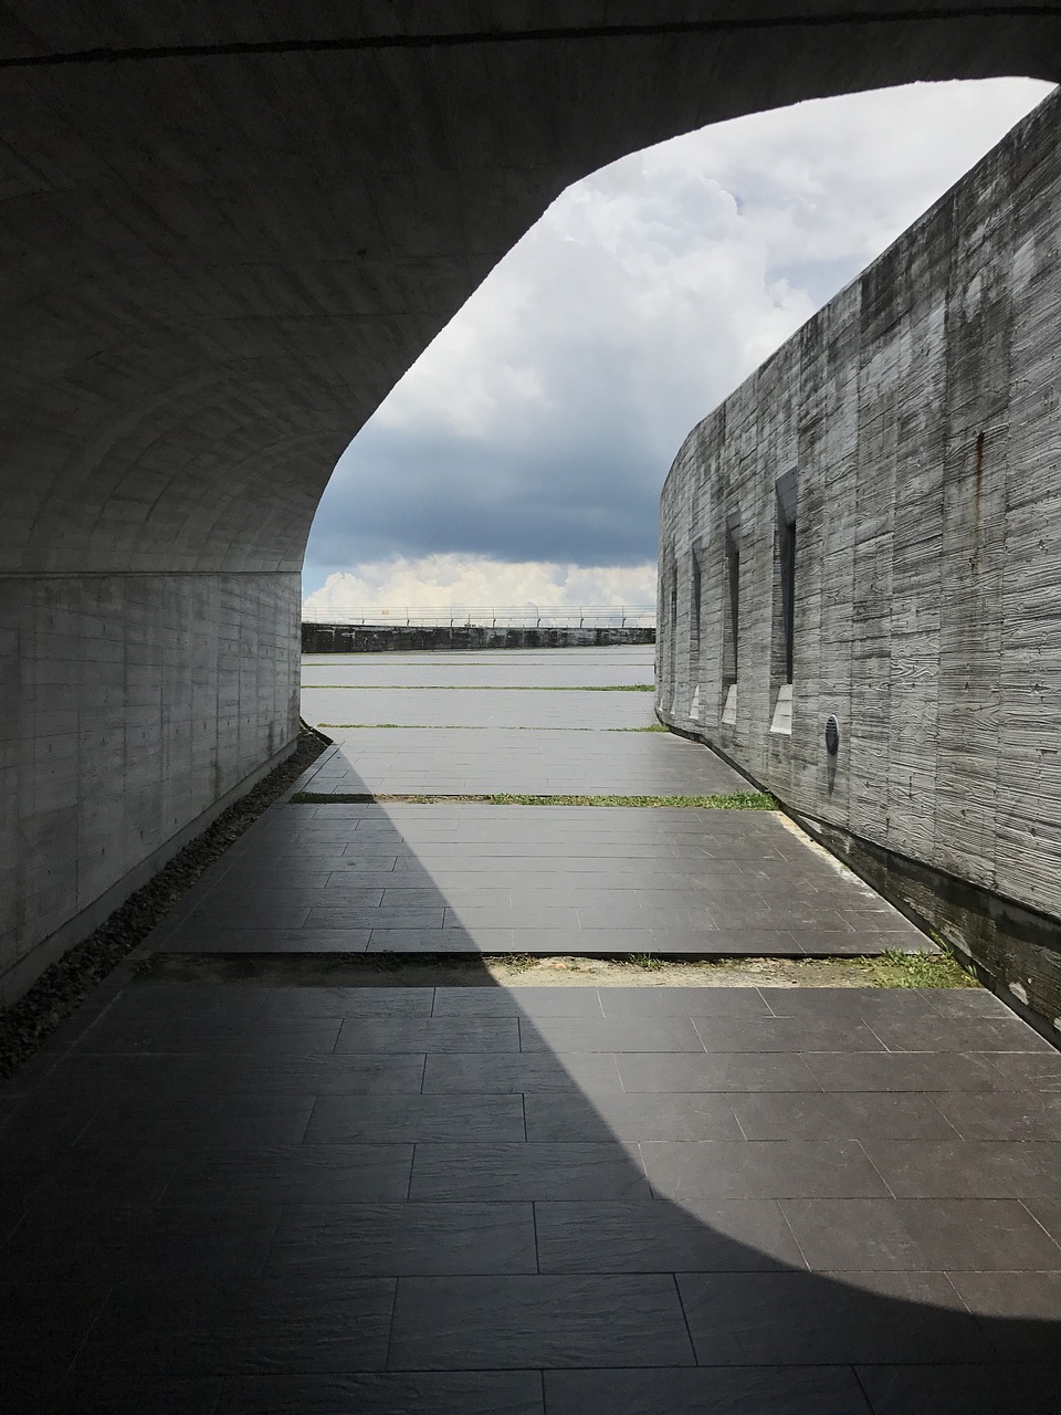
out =
[[(942, 995), (816, 1000), (830, 1053), (782, 989), (127, 985), (0, 1135), (16, 1408), (914, 1415), (939, 1363), (969, 1409), (1050, 1408), (1054, 1074), (995, 1068), (1038, 1039), (966, 1058)], [(932, 1017), (942, 1050), (860, 1050)], [(712, 1026), (774, 1050), (685, 1050)], [(826, 1056), (929, 1084), (823, 1090)]]

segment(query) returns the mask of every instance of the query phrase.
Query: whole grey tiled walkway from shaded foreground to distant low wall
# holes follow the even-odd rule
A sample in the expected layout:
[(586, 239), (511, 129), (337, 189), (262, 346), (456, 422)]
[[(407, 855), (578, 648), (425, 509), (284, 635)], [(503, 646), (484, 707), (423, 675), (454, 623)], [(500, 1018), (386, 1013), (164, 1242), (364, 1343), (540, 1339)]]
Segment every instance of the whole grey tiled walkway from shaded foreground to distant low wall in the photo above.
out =
[[(631, 730), (651, 675), (317, 659), (306, 716), (366, 726), (297, 790), (747, 790)], [(477, 962), (886, 949), (931, 944), (770, 811), (272, 807), (0, 1091), (11, 1409), (1055, 1411), (1061, 1057), (1000, 1000)]]

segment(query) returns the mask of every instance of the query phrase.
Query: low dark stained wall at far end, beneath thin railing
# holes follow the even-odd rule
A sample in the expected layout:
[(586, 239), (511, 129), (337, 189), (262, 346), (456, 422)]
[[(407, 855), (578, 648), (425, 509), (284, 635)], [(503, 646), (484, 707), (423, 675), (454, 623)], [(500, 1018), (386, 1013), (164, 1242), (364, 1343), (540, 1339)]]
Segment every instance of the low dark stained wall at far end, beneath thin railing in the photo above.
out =
[(444, 648), (604, 648), (621, 644), (655, 644), (655, 641), (654, 628), (303, 624), (303, 654), (396, 654)]

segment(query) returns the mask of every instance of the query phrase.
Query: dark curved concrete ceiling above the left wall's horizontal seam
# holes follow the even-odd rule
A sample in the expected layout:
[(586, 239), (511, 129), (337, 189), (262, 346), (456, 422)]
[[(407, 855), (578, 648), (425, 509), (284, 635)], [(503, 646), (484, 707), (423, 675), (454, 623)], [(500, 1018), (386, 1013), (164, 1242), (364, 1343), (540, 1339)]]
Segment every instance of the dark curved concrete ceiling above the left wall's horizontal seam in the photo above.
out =
[(811, 96), (1061, 72), (1051, 4), (263, 8), (0, 14), (0, 570), (298, 569), (348, 440), (570, 183)]

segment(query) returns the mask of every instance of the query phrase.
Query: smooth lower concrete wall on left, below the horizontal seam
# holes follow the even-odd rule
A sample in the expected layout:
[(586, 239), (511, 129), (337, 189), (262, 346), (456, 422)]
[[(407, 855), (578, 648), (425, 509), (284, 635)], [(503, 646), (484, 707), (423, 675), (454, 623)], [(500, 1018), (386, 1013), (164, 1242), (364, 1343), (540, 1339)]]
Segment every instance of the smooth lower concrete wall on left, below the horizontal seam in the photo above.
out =
[(0, 579), (0, 1003), (283, 757), (300, 608), (297, 574)]

